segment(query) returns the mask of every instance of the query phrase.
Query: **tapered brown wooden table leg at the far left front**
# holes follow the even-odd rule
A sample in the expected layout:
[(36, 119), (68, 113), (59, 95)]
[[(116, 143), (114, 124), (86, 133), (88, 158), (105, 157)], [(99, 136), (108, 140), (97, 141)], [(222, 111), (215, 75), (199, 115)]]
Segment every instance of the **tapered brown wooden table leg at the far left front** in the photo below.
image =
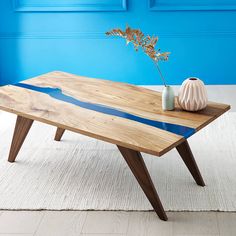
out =
[(28, 134), (33, 120), (24, 118), (22, 116), (17, 116), (15, 130), (12, 138), (10, 153), (8, 157), (9, 162), (14, 162), (20, 148)]

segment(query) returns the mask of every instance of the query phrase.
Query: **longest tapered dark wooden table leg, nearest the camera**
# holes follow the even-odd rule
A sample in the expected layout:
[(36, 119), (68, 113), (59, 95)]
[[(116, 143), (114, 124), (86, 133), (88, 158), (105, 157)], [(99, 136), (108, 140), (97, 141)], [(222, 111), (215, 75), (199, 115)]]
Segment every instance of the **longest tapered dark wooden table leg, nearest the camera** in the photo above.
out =
[(155, 212), (160, 217), (160, 219), (166, 221), (168, 218), (163, 209), (162, 203), (158, 197), (155, 186), (151, 180), (148, 169), (144, 163), (144, 160), (140, 152), (134, 151), (132, 149), (124, 148), (121, 146), (117, 146), (117, 147), (120, 150), (124, 159), (126, 160), (129, 168), (133, 172), (140, 187), (143, 189), (149, 202), (152, 204)]

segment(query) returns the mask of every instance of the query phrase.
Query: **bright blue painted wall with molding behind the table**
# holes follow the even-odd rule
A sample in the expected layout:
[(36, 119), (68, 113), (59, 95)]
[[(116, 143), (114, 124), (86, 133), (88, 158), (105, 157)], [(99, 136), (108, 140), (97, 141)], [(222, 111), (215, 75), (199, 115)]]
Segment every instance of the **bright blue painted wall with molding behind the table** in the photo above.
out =
[(161, 84), (150, 59), (104, 32), (126, 23), (170, 51), (169, 84), (236, 83), (236, 0), (1, 0), (0, 84), (52, 70)]

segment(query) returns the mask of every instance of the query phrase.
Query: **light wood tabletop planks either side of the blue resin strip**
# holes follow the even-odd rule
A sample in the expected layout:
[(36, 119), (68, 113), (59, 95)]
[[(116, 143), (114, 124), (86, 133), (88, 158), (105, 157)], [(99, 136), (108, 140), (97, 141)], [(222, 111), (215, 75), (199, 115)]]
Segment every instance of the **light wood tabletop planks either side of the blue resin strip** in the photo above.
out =
[[(102, 104), (140, 117), (199, 130), (230, 109), (209, 103), (197, 112), (163, 111), (161, 93), (134, 85), (51, 72), (24, 83), (60, 88), (81, 101)], [(0, 88), (0, 109), (78, 132), (119, 146), (161, 156), (184, 141), (180, 135), (145, 124), (65, 103), (47, 94), (7, 85)]]

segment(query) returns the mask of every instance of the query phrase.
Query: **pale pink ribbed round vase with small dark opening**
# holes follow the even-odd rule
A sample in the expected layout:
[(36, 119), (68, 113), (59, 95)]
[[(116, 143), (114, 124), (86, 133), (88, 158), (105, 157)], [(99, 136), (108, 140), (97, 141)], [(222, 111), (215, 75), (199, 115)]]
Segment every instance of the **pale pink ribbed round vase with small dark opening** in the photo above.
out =
[(199, 111), (207, 106), (207, 91), (204, 83), (198, 78), (186, 79), (178, 96), (180, 107), (186, 111)]

